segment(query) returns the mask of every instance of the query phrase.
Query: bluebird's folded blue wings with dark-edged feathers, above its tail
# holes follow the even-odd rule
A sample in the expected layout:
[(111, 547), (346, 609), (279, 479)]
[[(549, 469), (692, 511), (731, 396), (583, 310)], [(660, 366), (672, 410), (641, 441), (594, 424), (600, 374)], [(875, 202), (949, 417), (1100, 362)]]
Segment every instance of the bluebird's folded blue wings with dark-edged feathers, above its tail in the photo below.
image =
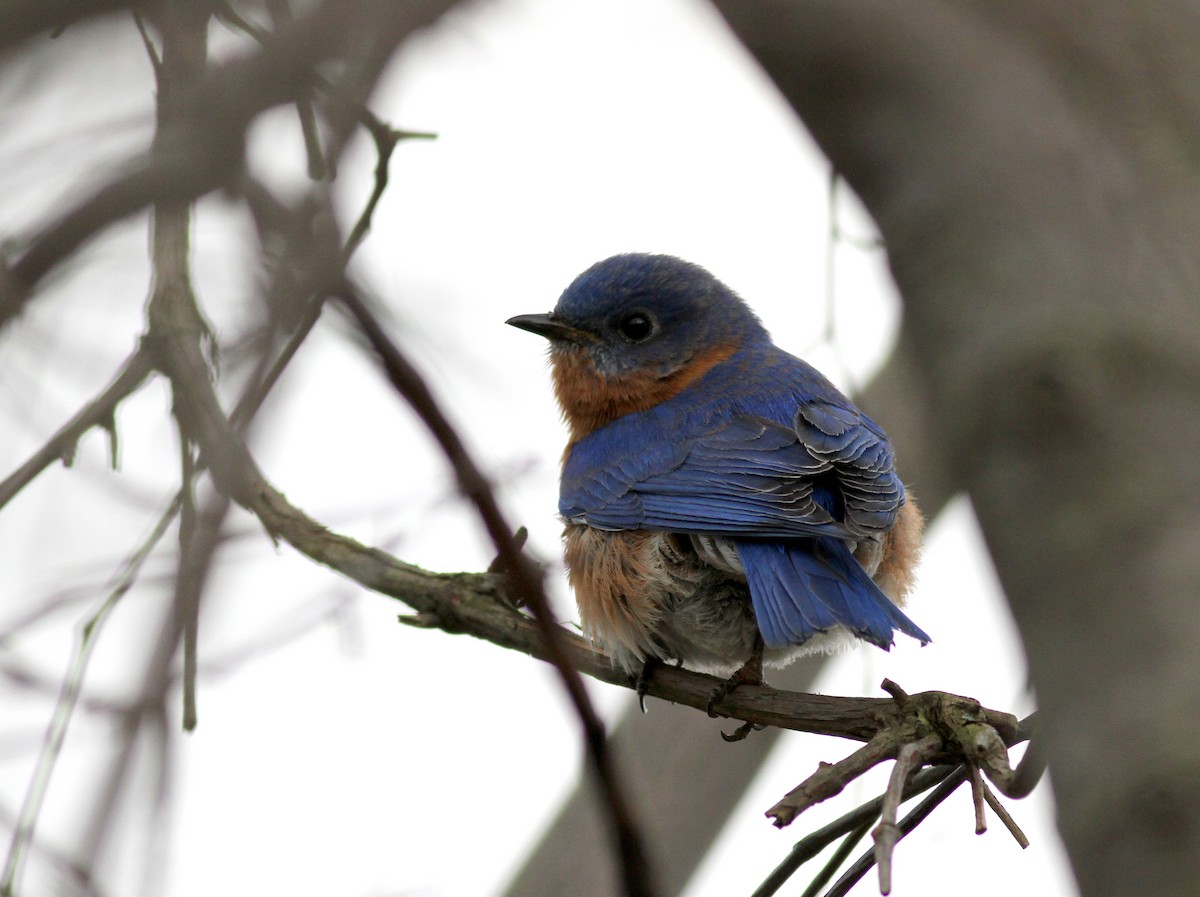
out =
[(792, 426), (751, 415), (700, 434), (679, 425), (629, 415), (577, 443), (563, 517), (607, 530), (856, 540), (890, 529), (904, 504), (886, 437), (848, 403), (803, 403)]

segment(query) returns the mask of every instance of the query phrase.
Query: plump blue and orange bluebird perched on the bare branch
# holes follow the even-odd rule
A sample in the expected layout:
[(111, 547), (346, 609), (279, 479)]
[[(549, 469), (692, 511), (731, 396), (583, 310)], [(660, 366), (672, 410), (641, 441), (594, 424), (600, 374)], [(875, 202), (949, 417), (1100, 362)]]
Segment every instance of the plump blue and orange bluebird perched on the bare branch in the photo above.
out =
[(616, 255), (508, 323), (550, 341), (566, 568), (614, 663), (761, 680), (854, 638), (929, 642), (896, 607), (922, 517), (887, 437), (708, 271)]

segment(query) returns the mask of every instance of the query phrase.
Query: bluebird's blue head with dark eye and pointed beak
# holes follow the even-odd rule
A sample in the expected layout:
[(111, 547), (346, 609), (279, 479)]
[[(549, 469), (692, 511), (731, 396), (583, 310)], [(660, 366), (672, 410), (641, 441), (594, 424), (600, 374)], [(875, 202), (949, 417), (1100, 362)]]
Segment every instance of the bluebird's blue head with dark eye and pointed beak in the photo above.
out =
[(700, 265), (630, 253), (598, 261), (563, 291), (550, 314), (508, 321), (584, 353), (605, 378), (665, 378), (715, 347), (766, 339), (754, 312)]

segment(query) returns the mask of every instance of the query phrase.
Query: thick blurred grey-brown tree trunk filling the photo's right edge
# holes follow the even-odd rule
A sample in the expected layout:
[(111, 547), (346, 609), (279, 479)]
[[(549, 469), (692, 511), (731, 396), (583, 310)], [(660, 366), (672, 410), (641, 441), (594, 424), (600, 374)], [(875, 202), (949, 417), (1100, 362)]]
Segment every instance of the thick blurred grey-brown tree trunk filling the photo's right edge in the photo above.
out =
[(1084, 895), (1194, 895), (1200, 7), (718, 6), (887, 242)]

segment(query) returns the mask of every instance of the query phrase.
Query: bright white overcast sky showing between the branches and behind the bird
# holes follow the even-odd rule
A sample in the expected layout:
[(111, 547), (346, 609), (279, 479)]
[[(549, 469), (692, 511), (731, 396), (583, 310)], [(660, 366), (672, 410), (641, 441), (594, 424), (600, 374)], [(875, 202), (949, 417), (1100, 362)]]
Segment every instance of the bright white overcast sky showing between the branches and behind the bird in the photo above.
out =
[[(94, 52), (91, 29), (71, 29), (44, 61), (0, 79), (0, 186), (10, 198), (0, 205), (0, 236), (23, 233), (58, 195), (144, 145), (149, 70), (131, 24), (110, 32)], [(79, 78), (83, 71), (89, 77)], [(542, 347), (503, 321), (551, 308), (590, 263), (660, 251), (703, 264), (751, 302), (776, 342), (847, 389), (870, 377), (895, 337), (899, 303), (882, 253), (842, 245), (834, 342), (823, 341), (827, 165), (701, 2), (476, 5), (404, 50), (374, 108), (398, 127), (439, 138), (397, 151), (358, 273), (504, 483), (511, 519), (529, 528), (544, 559), (558, 562), (564, 433)], [(290, 113), (257, 130), (253, 161), (281, 189), (299, 182)], [(346, 159), (347, 216), (368, 189), (372, 167), (366, 145)], [(852, 199), (839, 213), (847, 230), (870, 235)], [(203, 204), (198, 281), (222, 332), (242, 319), (254, 287), (253, 272), (238, 264), (247, 241), (245, 222), (222, 200)], [(95, 243), (19, 323), (16, 338), (5, 336), (0, 476), (132, 349), (146, 293), (144, 242), (144, 224), (133, 222)], [(257, 444), (265, 472), (319, 519), (406, 560), (448, 571), (485, 566), (492, 552), (452, 498), (444, 463), (343, 337), (326, 320), (269, 407)], [(104, 440), (92, 434), (76, 469), (48, 471), (0, 513), (0, 633), (48, 595), (74, 590), (82, 598), (0, 643), (53, 680), (66, 667), (77, 622), (174, 489), (167, 403), (152, 386), (122, 409), (120, 472), (106, 470)], [(174, 739), (164, 833), (149, 842), (119, 837), (119, 857), (103, 871), (107, 892), (161, 885), (172, 897), (494, 893), (577, 773), (576, 727), (554, 679), (490, 645), (398, 626), (395, 602), (274, 548), (246, 516), (234, 520), (242, 537), (226, 549), (212, 583), (204, 658), (215, 663), (311, 615), (332, 615), (204, 681), (199, 729)], [(163, 552), (152, 572), (164, 574), (170, 560)], [(554, 583), (570, 615), (570, 597), (560, 578)], [(90, 680), (97, 693), (134, 684), (142, 661), (131, 657), (142, 656), (163, 597), (151, 577), (114, 616)], [(1012, 624), (961, 500), (930, 532), (911, 614), (932, 645), (840, 655), (820, 690), (876, 694), (888, 676), (911, 692), (941, 688), (1018, 714), (1032, 709)], [(0, 690), (2, 823), (19, 805), (49, 704)], [(592, 684), (590, 691), (610, 715), (626, 700), (619, 690)], [(109, 735), (98, 717), (76, 721), (43, 819), (49, 843), (70, 849), (86, 826), (90, 783), (107, 775)], [(852, 747), (786, 736), (688, 897), (749, 893), (799, 836), (844, 811), (848, 805), (817, 808), (784, 832), (762, 815), (817, 760)], [(134, 788), (152, 782), (154, 770), (143, 769)], [(144, 824), (144, 806), (127, 809), (112, 821), (115, 831)], [(1073, 895), (1049, 789), (1012, 809), (1033, 841), (1026, 851), (998, 825), (974, 837), (970, 801), (955, 795), (900, 844), (893, 893), (968, 886), (974, 897)], [(150, 865), (163, 869), (162, 879), (146, 883), (151, 855), (164, 860)], [(35, 883), (42, 892), (66, 892), (37, 862), (29, 881), (29, 893)], [(859, 890), (872, 893), (874, 881)]]

